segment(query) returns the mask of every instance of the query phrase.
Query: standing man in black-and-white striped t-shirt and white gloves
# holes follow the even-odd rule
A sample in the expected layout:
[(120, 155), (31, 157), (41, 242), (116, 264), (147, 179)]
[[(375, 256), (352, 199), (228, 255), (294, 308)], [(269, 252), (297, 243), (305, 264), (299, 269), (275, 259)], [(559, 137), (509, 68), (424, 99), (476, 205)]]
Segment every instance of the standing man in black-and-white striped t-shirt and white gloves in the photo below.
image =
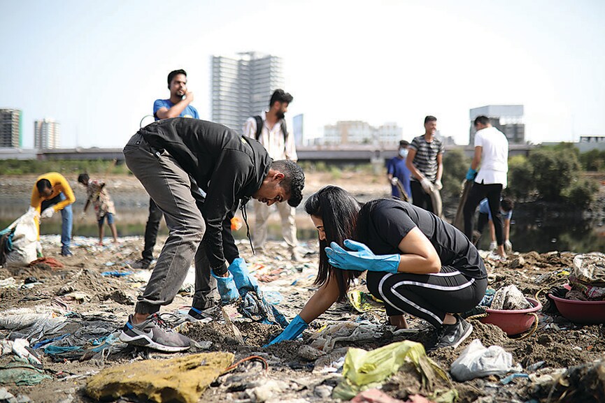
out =
[(410, 186), (413, 205), (436, 214), (431, 193), (441, 190), (443, 175), (443, 142), (435, 137), (437, 118), (425, 117), (425, 134), (412, 140), (406, 165), (412, 173)]

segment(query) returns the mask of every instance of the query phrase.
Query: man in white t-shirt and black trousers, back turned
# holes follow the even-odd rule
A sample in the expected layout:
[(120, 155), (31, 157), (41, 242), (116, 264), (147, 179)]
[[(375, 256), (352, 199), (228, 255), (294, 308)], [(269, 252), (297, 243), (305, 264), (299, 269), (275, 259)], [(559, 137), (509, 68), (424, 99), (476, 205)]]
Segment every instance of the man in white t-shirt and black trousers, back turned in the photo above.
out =
[[(464, 233), (469, 240), (473, 239), (475, 210), (481, 200), (487, 197), (490, 206), (494, 230), (496, 232), (497, 254), (506, 257), (504, 237), (502, 236), (502, 217), (500, 198), (502, 189), (506, 188), (508, 173), (508, 140), (506, 135), (492, 127), (490, 119), (478, 116), (474, 122), (475, 154), (467, 180), (474, 180), (467, 202), (464, 203)], [(481, 169), (477, 169), (481, 165)]]

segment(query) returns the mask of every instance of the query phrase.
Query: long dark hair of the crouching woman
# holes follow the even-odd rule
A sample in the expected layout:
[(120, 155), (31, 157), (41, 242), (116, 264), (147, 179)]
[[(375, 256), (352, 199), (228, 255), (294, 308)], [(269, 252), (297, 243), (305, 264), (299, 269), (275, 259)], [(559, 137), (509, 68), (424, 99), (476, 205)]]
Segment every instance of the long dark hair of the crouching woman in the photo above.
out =
[(346, 297), (353, 279), (360, 277), (362, 272), (334, 268), (328, 263), (325, 247), (330, 242), (343, 246), (344, 240), (356, 239), (357, 214), (361, 207), (361, 203), (348, 191), (331, 185), (313, 193), (305, 203), (307, 214), (322, 219), (326, 234), (326, 240), (320, 240), (320, 264), (315, 285), (322, 286), (332, 274), (339, 286), (339, 301)]

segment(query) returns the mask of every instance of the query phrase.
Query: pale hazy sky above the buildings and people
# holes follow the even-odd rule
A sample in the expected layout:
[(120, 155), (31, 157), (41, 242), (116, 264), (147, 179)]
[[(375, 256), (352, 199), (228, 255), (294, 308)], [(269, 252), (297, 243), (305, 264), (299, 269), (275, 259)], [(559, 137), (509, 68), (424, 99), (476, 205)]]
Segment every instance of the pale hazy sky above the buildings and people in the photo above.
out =
[[(178, 4), (178, 5), (177, 5)], [(527, 140), (605, 135), (605, 1), (0, 0), (0, 108), (61, 123), (62, 147), (121, 147), (185, 68), (210, 118), (213, 54), (284, 59), (288, 117), (324, 124), (425, 115), (467, 144), (469, 108), (525, 105)]]

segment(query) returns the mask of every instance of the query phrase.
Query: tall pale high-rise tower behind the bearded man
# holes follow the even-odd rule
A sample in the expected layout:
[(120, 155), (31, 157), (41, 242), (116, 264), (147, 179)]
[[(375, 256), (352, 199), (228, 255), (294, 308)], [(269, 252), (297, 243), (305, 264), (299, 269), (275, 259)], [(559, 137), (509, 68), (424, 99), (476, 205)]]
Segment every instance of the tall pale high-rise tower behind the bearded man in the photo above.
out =
[(246, 119), (269, 109), (283, 88), (282, 59), (257, 52), (212, 57), (211, 120), (241, 131)]

